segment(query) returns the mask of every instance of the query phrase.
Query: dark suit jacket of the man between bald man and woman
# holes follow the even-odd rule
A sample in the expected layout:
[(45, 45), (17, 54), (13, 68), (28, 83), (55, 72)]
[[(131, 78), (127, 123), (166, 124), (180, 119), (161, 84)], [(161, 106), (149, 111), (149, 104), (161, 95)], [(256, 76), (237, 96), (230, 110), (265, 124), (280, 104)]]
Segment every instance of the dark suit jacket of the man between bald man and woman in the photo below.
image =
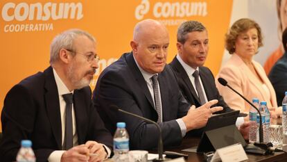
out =
[[(180, 90), (182, 90), (182, 95), (184, 95), (185, 99), (196, 107), (201, 106), (200, 100), (192, 86), (189, 76), (186, 74), (184, 67), (182, 67), (177, 58), (173, 58), (173, 61), (169, 65), (173, 68), (173, 71), (175, 72), (178, 86), (180, 86)], [(216, 104), (215, 106), (223, 106), (224, 108), (223, 111), (219, 111), (218, 113), (232, 111), (232, 109), (229, 108), (229, 106), (224, 102), (223, 97), (219, 95), (219, 92), (216, 88), (216, 84), (214, 82), (214, 75), (209, 70), (209, 68), (199, 67), (199, 72), (200, 79), (202, 81), (203, 87), (205, 88), (207, 100), (210, 101), (212, 99), (218, 99), (218, 104)]]

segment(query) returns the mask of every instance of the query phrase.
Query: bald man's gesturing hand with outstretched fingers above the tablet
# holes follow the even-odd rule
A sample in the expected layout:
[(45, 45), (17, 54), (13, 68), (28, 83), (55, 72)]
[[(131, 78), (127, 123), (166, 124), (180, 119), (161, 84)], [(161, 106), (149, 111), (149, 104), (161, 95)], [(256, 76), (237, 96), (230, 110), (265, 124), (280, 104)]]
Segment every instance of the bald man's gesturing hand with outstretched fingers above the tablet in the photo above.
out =
[(199, 129), (205, 127), (207, 124), (207, 120), (210, 118), (212, 113), (217, 111), (222, 111), (223, 107), (216, 106), (210, 108), (212, 105), (218, 102), (217, 99), (211, 100), (199, 108), (195, 108), (195, 106), (191, 106), (187, 115), (185, 115), (182, 120), (186, 126), (186, 131), (190, 131), (191, 129)]

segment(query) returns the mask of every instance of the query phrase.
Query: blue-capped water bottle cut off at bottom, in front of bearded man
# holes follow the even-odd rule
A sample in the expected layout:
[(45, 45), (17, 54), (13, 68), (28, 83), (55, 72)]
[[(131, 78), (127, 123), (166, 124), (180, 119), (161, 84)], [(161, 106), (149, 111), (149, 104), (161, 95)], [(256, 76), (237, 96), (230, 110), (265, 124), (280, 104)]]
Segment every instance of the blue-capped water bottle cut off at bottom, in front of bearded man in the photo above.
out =
[(17, 162), (35, 162), (36, 157), (33, 152), (31, 140), (21, 140), (21, 148), (16, 156)]

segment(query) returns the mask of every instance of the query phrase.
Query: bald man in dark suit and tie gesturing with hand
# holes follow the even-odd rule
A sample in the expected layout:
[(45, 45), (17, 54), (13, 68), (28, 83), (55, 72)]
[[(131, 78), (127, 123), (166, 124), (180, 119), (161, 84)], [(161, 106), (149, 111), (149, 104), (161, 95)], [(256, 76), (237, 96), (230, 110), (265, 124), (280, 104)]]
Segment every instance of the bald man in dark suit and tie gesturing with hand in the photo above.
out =
[(169, 36), (163, 24), (146, 19), (134, 27), (132, 52), (105, 68), (94, 90), (94, 102), (107, 129), (114, 133), (116, 122), (125, 122), (130, 149), (157, 147), (154, 124), (112, 111), (111, 105), (159, 123), (164, 145), (179, 145), (186, 131), (204, 127), (210, 108), (217, 100), (195, 109), (186, 102), (170, 67), (166, 66)]

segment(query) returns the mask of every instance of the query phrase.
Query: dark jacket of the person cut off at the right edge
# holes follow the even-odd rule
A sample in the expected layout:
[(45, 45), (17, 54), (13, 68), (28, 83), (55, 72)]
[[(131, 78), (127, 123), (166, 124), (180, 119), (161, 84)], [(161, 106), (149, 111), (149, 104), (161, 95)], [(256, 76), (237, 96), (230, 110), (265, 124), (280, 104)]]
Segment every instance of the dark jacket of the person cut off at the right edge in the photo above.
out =
[(285, 53), (272, 67), (268, 78), (276, 92), (277, 104), (282, 106), (287, 91), (287, 54)]

